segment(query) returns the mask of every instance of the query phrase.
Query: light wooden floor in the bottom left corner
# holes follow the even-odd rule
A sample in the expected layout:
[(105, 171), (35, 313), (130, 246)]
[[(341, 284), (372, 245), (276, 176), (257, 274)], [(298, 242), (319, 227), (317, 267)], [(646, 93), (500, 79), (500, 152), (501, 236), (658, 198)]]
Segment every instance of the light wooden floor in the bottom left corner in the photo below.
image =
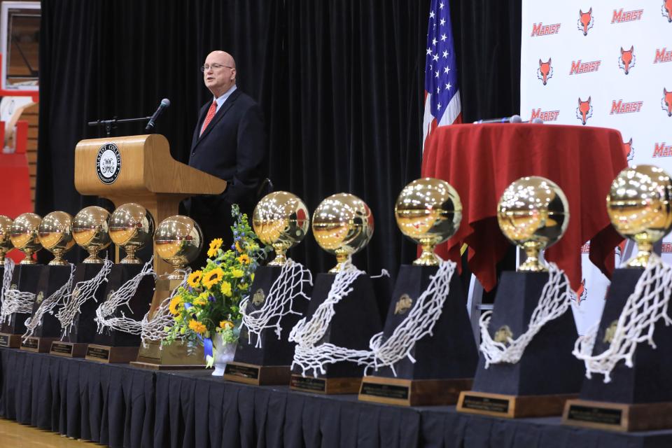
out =
[(92, 448), (96, 446), (99, 445), (71, 440), (57, 433), (0, 418), (0, 448)]

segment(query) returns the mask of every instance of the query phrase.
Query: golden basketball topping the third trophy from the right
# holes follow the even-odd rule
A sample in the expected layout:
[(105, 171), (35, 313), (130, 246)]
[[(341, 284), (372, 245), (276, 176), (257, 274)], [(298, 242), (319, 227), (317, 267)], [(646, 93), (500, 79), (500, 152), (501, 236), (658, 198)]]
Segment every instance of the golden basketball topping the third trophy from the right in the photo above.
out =
[(401, 190), (394, 216), (402, 234), (420, 244), (422, 254), (416, 266), (437, 266), (437, 244), (455, 235), (462, 222), (462, 203), (446, 181), (426, 177), (416, 179)]

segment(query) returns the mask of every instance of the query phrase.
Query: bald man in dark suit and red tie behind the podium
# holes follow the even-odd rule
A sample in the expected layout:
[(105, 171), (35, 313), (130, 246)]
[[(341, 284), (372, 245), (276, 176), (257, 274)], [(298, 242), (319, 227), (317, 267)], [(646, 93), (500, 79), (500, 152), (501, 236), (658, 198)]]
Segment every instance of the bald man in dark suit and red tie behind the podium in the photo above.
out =
[[(213, 99), (201, 108), (191, 144), (189, 165), (227, 181), (221, 195), (186, 201), (189, 215), (201, 226), (204, 246), (214, 238), (231, 241), (231, 205), (251, 218), (257, 192), (266, 177), (267, 137), (259, 105), (236, 87), (236, 62), (228, 52), (211, 52), (201, 67)], [(207, 250), (195, 260), (202, 267)]]

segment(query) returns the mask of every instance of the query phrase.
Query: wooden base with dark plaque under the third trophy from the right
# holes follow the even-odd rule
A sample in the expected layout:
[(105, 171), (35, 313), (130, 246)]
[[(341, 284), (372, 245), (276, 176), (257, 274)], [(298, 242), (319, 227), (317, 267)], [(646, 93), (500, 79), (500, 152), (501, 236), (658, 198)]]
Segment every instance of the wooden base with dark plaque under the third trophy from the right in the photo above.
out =
[(386, 405), (454, 405), (461, 391), (471, 388), (471, 378), (404, 379), (364, 377), (359, 399)]

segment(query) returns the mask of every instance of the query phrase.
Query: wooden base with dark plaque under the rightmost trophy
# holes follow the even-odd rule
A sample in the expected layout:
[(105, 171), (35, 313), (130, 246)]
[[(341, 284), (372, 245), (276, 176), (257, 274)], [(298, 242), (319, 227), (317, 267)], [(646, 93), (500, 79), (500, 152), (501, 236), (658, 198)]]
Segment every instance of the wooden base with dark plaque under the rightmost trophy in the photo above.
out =
[(562, 423), (616, 431), (672, 428), (672, 402), (628, 404), (568, 400)]

